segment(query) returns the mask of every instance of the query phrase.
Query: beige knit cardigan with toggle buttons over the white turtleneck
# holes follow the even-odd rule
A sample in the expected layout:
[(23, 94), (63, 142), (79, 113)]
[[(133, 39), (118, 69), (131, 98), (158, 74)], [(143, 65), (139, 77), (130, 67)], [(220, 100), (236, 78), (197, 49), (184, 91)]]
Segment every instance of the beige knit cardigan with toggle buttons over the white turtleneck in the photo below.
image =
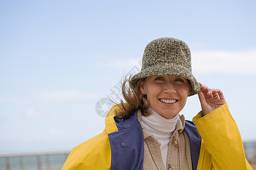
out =
[[(138, 121), (141, 121), (141, 112), (138, 112)], [(144, 136), (144, 161), (143, 170), (152, 169), (191, 169), (191, 154), (189, 139), (185, 131), (185, 117), (180, 116), (180, 120), (177, 121), (176, 129), (171, 136), (168, 154), (167, 165), (164, 167), (162, 154), (160, 151), (161, 143), (152, 135), (144, 126), (142, 126)], [(179, 145), (178, 145), (179, 143)]]

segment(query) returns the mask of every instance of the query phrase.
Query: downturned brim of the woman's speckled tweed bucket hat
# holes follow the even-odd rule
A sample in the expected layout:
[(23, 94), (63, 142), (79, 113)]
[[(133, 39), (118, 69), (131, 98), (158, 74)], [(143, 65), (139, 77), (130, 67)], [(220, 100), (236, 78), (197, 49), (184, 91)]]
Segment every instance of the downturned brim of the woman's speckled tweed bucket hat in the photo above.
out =
[(197, 94), (196, 91), (201, 91), (201, 87), (197, 82), (196, 78), (191, 74), (187, 68), (177, 65), (177, 64), (166, 64), (155, 65), (147, 67), (147, 69), (142, 70), (141, 72), (135, 74), (131, 78), (131, 84), (135, 87), (141, 78), (147, 78), (150, 76), (181, 76), (188, 79), (191, 82), (191, 94), (189, 96)]

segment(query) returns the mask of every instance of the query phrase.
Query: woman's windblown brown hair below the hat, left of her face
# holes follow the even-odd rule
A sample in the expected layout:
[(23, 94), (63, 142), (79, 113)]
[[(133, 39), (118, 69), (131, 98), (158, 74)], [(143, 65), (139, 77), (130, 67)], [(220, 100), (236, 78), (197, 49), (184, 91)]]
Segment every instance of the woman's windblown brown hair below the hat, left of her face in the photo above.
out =
[[(135, 111), (140, 110), (143, 116), (150, 115), (150, 106), (147, 104), (147, 96), (143, 95), (141, 92), (141, 82), (145, 79), (140, 79), (136, 86), (131, 84), (131, 76), (129, 79), (127, 77), (122, 83), (122, 95), (125, 101), (121, 100), (117, 104), (118, 109), (115, 109), (115, 116), (119, 119), (125, 119), (130, 117)], [(128, 86), (126, 84), (128, 83)]]

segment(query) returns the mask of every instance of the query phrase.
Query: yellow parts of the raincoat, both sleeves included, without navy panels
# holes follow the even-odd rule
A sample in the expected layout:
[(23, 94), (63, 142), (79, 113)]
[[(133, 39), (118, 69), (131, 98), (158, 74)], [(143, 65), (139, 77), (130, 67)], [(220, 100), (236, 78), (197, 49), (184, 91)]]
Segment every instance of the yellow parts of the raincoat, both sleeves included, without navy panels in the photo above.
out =
[[(137, 162), (139, 157), (138, 159), (123, 160), (123, 164), (129, 162), (130, 167), (126, 165), (118, 168), (113, 165), (109, 138), (112, 137), (112, 134), (118, 133), (113, 110), (111, 109), (106, 116), (105, 130), (96, 137), (73, 148), (63, 170), (133, 169), (131, 168), (133, 162)], [(253, 169), (245, 158), (241, 135), (227, 104), (206, 116), (203, 116), (203, 112), (198, 113), (193, 118), (193, 123), (201, 135), (197, 169)], [(140, 162), (141, 164), (136, 164), (137, 169), (142, 168), (143, 155)], [(122, 162), (119, 165), (122, 165)]]

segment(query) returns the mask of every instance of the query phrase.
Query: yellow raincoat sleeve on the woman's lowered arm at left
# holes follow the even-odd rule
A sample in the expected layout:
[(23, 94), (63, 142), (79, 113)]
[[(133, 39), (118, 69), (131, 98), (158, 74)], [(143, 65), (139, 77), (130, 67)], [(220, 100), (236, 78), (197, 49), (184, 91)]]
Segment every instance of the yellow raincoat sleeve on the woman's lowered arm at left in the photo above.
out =
[(111, 149), (108, 134), (101, 134), (73, 148), (62, 170), (110, 169)]

